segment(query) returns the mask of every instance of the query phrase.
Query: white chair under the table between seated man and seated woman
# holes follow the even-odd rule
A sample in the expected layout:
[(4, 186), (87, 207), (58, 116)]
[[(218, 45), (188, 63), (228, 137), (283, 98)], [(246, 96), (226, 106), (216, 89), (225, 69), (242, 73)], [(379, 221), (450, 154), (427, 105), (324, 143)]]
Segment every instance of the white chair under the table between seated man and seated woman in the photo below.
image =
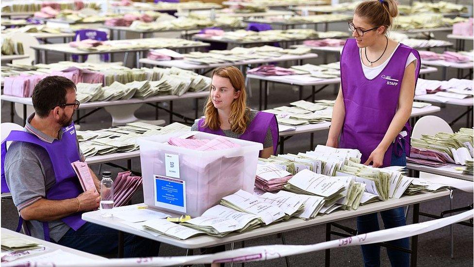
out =
[(152, 125), (164, 125), (164, 120), (140, 120), (135, 117), (135, 111), (140, 108), (143, 104), (126, 104), (119, 106), (108, 106), (104, 107), (110, 116), (112, 116), (112, 126), (125, 125), (128, 123), (143, 122)]

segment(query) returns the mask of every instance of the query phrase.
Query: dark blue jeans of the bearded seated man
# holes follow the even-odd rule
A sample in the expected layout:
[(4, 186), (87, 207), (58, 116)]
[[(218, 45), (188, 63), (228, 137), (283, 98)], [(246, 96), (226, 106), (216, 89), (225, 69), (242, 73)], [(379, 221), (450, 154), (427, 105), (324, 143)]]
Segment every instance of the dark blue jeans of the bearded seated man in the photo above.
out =
[[(158, 256), (160, 242), (127, 233), (123, 240), (125, 258)], [(77, 231), (69, 229), (57, 244), (97, 255), (114, 254), (119, 248), (119, 231), (87, 222)]]

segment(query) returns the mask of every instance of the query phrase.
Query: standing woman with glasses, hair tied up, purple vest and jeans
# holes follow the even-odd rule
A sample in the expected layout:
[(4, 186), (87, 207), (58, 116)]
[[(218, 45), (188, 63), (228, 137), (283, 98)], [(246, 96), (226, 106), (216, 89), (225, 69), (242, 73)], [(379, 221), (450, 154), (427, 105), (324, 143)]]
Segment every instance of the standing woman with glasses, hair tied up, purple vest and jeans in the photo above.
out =
[[(358, 149), (373, 167), (406, 166), (410, 155), (408, 119), (420, 71), (419, 53), (389, 38), (398, 15), (395, 0), (365, 0), (357, 5), (342, 49), (341, 87), (326, 145)], [(385, 228), (406, 225), (403, 208), (380, 213)], [(378, 231), (377, 214), (357, 217), (359, 234)], [(389, 242), (408, 249), (408, 238)], [(364, 265), (380, 266), (380, 247), (363, 245)], [(391, 266), (409, 266), (406, 252), (387, 248)]]

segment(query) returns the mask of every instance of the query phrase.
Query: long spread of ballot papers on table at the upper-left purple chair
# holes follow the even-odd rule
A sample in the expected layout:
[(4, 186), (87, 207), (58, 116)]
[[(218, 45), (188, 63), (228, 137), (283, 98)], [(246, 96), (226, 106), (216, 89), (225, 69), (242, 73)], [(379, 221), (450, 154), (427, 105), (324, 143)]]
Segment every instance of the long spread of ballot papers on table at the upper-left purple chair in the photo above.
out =
[(87, 52), (113, 52), (128, 49), (152, 49), (152, 48), (183, 48), (204, 46), (206, 43), (179, 38), (144, 38), (113, 41), (95, 41), (85, 39), (70, 42), (69, 46)]

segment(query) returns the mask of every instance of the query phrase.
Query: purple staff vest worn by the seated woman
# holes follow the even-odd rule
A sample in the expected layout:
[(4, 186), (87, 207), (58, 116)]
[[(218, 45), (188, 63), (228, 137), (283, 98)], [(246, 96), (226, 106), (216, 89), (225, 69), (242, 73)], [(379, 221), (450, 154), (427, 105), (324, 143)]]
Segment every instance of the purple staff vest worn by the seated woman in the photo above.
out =
[[(241, 134), (238, 139), (264, 143), (268, 128), (271, 130), (271, 140), (273, 141), (273, 155), (276, 153), (278, 146), (278, 123), (274, 114), (258, 111), (252, 122), (249, 124), (245, 132)], [(211, 134), (225, 136), (222, 129), (213, 130), (209, 127), (204, 127), (204, 118), (198, 122), (198, 130)]]

